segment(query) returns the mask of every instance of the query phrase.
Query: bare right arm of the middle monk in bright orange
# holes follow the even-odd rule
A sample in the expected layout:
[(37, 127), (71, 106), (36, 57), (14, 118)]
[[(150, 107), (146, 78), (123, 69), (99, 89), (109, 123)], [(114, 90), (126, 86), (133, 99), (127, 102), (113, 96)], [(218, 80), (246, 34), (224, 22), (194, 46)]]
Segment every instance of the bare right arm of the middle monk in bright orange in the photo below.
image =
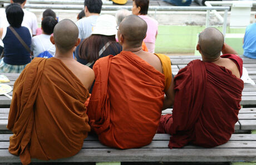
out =
[(171, 80), (171, 85), (167, 91), (165, 91), (164, 106), (162, 110), (169, 109), (174, 104), (174, 81)]

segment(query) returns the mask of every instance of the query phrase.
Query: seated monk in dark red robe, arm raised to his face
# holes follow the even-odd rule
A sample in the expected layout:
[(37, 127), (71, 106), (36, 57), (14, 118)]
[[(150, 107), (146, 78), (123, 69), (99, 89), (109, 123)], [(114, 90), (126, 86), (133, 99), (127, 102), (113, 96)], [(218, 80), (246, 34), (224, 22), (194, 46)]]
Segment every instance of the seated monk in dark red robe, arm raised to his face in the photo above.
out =
[[(189, 142), (215, 147), (228, 142), (238, 121), (244, 87), (243, 61), (215, 28), (206, 28), (196, 46), (203, 60), (193, 60), (174, 79), (173, 115), (161, 116), (157, 133), (170, 133), (169, 147)], [(220, 56), (220, 51), (224, 55)]]

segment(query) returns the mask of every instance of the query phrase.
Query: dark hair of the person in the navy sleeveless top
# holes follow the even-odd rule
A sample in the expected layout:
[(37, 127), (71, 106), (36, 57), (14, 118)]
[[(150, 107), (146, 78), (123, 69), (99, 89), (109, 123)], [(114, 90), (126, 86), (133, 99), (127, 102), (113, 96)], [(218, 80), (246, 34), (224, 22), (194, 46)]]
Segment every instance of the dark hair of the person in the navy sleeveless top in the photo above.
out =
[(19, 4), (12, 3), (6, 7), (6, 18), (12, 27), (21, 27), (23, 16), (24, 12)]

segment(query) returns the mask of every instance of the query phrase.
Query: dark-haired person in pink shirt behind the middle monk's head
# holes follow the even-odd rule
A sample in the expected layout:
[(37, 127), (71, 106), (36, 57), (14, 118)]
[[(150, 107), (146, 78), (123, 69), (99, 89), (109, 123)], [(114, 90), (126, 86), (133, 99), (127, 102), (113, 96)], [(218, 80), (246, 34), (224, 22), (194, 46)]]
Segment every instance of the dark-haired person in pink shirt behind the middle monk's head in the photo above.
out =
[(144, 19), (147, 23), (146, 38), (143, 40), (150, 53), (155, 53), (155, 42), (158, 30), (158, 22), (147, 16), (147, 10), (149, 9), (149, 0), (133, 0), (132, 2), (132, 14)]

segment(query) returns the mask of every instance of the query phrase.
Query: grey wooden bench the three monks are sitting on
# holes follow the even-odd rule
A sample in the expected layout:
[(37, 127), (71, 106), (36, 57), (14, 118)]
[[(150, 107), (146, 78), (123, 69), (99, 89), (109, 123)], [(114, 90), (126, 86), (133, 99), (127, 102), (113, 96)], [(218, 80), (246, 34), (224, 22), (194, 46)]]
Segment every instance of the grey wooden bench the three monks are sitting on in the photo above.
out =
[[(8, 152), (9, 134), (0, 135), (0, 162), (18, 163), (18, 156)], [(185, 146), (168, 148), (170, 135), (156, 134), (142, 148), (115, 149), (102, 145), (95, 136), (88, 136), (80, 152), (70, 158), (48, 162), (253, 162), (256, 161), (256, 135), (233, 134), (228, 143), (214, 148)], [(32, 159), (32, 162), (45, 162)]]

